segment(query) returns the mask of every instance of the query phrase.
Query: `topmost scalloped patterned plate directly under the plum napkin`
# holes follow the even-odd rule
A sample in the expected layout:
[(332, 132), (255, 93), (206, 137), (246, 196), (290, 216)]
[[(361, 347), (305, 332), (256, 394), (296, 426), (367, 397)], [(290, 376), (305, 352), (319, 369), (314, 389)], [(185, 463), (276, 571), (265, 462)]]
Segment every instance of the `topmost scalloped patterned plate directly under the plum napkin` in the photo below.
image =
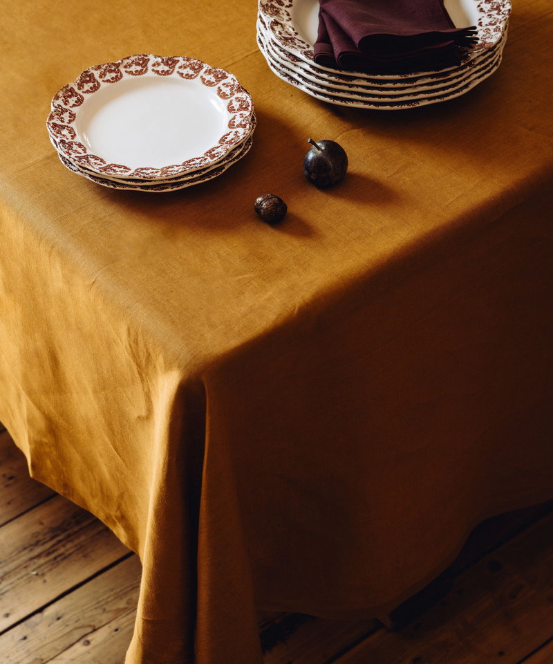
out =
[[(456, 27), (476, 26), (478, 44), (467, 53), (464, 63), (489, 50), (499, 41), (511, 12), (510, 0), (445, 0), (444, 5)], [(317, 41), (319, 26), (319, 0), (259, 0), (258, 8), (277, 44), (303, 62), (314, 64), (313, 48)], [(323, 71), (337, 71), (321, 65), (317, 67)], [(452, 71), (456, 68), (450, 67), (441, 71)], [(361, 72), (339, 71), (344, 74), (354, 74), (359, 78), (366, 77)], [(431, 72), (419, 73), (419, 75), (427, 74)], [(371, 73), (369, 76), (373, 79), (401, 80), (416, 74)]]

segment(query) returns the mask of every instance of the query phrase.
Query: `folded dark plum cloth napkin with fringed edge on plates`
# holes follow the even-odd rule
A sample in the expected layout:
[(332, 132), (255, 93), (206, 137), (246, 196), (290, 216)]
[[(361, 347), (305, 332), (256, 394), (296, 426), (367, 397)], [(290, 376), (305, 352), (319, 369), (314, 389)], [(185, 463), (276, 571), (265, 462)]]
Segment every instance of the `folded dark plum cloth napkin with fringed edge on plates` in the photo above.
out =
[(456, 28), (442, 0), (319, 0), (315, 63), (409, 73), (458, 66), (476, 28)]

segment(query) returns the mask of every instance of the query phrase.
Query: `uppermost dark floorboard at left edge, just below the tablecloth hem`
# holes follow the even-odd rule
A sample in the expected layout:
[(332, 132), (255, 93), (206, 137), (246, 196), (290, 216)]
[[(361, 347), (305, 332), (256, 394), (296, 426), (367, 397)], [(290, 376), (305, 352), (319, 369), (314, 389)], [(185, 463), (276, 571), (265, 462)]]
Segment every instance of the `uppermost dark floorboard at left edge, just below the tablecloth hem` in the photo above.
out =
[(0, 526), (53, 495), (30, 477), (25, 455), (0, 425)]

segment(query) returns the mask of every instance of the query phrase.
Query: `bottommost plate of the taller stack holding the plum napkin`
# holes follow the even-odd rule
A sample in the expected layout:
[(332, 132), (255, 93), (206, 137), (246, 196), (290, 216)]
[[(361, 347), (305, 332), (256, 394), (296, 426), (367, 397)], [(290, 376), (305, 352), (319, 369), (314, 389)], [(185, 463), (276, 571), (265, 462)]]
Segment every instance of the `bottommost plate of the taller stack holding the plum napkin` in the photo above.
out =
[(268, 56), (268, 54), (265, 53), (265, 44), (263, 44), (263, 41), (259, 38), (259, 36), (257, 39), (257, 44), (261, 49), (263, 55), (265, 55), (265, 60), (267, 61), (267, 64), (269, 65), (271, 71), (286, 83), (290, 83), (290, 85), (293, 85), (294, 87), (303, 90), (303, 92), (306, 92), (308, 93), (308, 95), (311, 95), (312, 97), (315, 97), (315, 99), (321, 100), (323, 102), (329, 102), (330, 104), (337, 104), (338, 106), (350, 106), (357, 109), (373, 109), (375, 111), (399, 111), (402, 109), (412, 109), (419, 106), (427, 106), (428, 104), (438, 104), (439, 102), (444, 102), (449, 99), (460, 97), (460, 95), (464, 95), (469, 90), (473, 89), (474, 86), (478, 85), (478, 83), (482, 82), (487, 77), (491, 76), (491, 74), (493, 74), (494, 71), (496, 71), (498, 66), (501, 64), (501, 55), (499, 55), (494, 66), (487, 69), (485, 73), (481, 73), (480, 75), (474, 77), (473, 80), (471, 80), (469, 83), (465, 85), (462, 85), (460, 88), (454, 91), (449, 91), (441, 95), (432, 96), (428, 98), (415, 99), (409, 102), (406, 101), (372, 102), (367, 100), (340, 97), (337, 95), (331, 95), (328, 92), (319, 92), (308, 88), (305, 84), (297, 80), (297, 78), (292, 77), (291, 75), (285, 73), (283, 69), (279, 68), (277, 64), (274, 63), (274, 61)]

